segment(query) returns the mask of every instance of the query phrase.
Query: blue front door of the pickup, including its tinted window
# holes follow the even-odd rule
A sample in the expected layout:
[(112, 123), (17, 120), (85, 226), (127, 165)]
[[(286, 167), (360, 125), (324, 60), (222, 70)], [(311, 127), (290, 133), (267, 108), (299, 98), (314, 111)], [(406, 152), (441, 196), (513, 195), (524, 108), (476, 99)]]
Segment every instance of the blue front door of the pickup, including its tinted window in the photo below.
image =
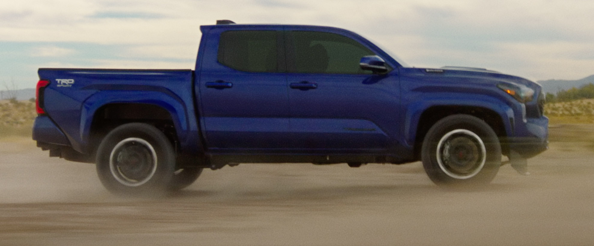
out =
[(368, 46), (340, 33), (286, 32), (293, 147), (312, 152), (384, 152), (394, 146), (400, 90), (396, 72), (359, 66)]

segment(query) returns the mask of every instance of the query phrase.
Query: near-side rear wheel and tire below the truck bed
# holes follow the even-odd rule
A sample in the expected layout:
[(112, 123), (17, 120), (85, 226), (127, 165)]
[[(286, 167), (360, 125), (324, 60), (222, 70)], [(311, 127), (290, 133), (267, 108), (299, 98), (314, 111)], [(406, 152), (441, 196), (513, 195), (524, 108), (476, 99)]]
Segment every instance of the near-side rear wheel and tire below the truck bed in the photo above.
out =
[(97, 174), (103, 186), (120, 195), (164, 195), (175, 171), (169, 139), (144, 123), (116, 127), (97, 150)]

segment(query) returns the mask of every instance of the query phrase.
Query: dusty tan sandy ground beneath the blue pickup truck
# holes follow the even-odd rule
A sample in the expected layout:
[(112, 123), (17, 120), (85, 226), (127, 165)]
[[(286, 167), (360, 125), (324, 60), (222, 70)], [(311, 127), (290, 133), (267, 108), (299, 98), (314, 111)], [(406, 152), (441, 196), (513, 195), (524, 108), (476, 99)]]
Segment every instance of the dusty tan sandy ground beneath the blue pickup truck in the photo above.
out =
[(93, 165), (4, 139), (0, 245), (593, 245), (594, 152), (571, 133), (594, 128), (481, 191), (440, 190), (419, 162), (245, 164), (160, 199), (115, 197)]

